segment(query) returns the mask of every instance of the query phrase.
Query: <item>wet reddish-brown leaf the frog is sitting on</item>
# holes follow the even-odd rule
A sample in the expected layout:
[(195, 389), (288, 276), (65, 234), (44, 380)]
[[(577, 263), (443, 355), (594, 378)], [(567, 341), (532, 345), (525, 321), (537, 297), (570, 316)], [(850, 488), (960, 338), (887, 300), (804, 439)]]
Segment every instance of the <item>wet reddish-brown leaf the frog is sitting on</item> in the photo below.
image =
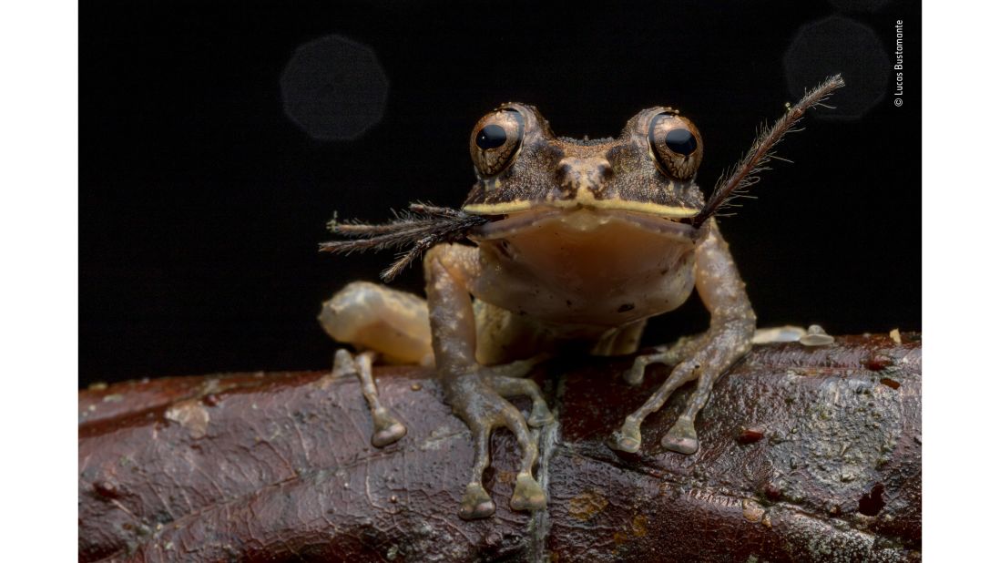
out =
[[(876, 355), (889, 361), (872, 371)], [(475, 522), (457, 516), (470, 435), (427, 370), (376, 371), (409, 428), (384, 449), (357, 381), (326, 372), (82, 391), (79, 559), (919, 559), (920, 357), (909, 334), (758, 346), (716, 384), (690, 456), (659, 445), (689, 388), (649, 417), (641, 454), (604, 444), (666, 368), (633, 388), (627, 358), (550, 361), (535, 374), (558, 419), (540, 433), (549, 508), (508, 509), (518, 450), (503, 431), (497, 514)]]

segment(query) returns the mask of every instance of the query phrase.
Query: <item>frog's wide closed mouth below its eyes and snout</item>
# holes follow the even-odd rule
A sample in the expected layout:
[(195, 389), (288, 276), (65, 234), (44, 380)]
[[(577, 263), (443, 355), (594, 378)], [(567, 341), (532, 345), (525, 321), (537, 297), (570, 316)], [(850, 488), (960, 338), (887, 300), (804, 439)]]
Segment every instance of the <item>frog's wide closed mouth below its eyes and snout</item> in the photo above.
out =
[(598, 232), (612, 224), (625, 224), (678, 242), (689, 243), (694, 243), (700, 233), (700, 229), (687, 223), (626, 209), (541, 207), (487, 217), (491, 219), (489, 223), (469, 231), (470, 239), (486, 241), (507, 238), (534, 229), (542, 229), (553, 223), (559, 223), (563, 228), (577, 232)]

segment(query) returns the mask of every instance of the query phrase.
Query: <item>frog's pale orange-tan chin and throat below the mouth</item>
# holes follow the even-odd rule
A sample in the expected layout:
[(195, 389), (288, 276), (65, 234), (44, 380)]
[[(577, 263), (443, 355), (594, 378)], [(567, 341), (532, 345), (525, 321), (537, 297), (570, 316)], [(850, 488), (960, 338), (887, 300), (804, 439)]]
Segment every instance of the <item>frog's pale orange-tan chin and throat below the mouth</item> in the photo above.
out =
[(693, 287), (703, 232), (627, 211), (540, 209), (476, 228), (470, 293), (535, 319), (621, 326), (669, 311)]

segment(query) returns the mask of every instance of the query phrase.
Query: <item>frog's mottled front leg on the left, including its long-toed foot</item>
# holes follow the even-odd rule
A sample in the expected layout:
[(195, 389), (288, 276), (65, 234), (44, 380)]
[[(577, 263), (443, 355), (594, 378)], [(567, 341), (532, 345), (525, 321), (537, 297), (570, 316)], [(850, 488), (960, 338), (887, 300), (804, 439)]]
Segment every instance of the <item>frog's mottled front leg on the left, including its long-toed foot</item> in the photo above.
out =
[(476, 361), (476, 322), (469, 287), (479, 273), (478, 249), (474, 247), (440, 245), (431, 249), (424, 260), (427, 305), (438, 375), (445, 399), (472, 431), (475, 447), (472, 478), (466, 486), (459, 510), (459, 516), (464, 519), (484, 518), (496, 510), (496, 505), (483, 487), (482, 478), (490, 462), (490, 434), (500, 426), (506, 426), (514, 433), (522, 455), (514, 494), (510, 499), (511, 508), (545, 508), (545, 492), (532, 476), (538, 446), (524, 416), (504, 396), (530, 396), (534, 403), (531, 417), (534, 424), (544, 424), (550, 419), (548, 408), (538, 386), (533, 381), (518, 378), (530, 370), (532, 362), (482, 367)]

